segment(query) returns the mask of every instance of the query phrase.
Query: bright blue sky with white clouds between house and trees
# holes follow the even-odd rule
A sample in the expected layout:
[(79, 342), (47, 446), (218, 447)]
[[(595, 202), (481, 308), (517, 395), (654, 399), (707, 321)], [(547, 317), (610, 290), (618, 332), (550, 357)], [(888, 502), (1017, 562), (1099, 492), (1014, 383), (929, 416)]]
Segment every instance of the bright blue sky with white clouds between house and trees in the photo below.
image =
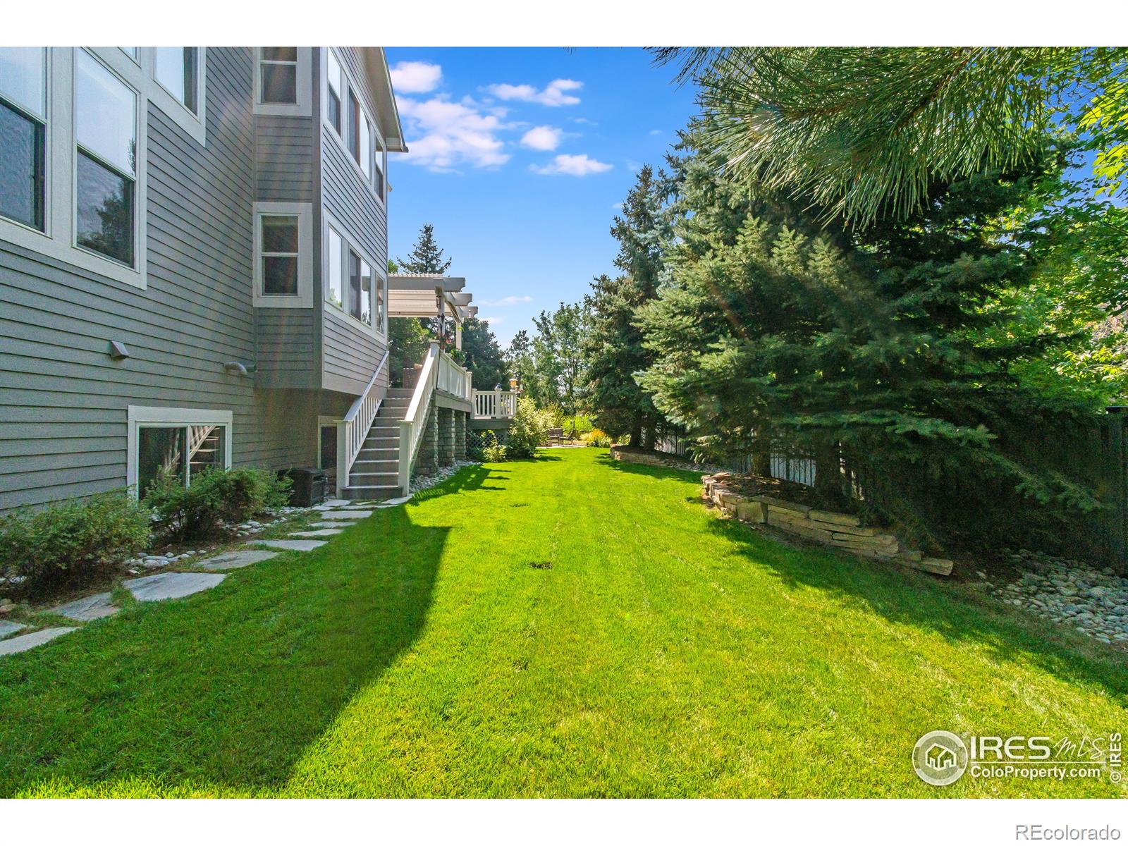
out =
[(504, 345), (614, 271), (617, 203), (694, 114), (636, 49), (389, 47), (411, 152), (389, 156), (389, 254), (423, 223)]

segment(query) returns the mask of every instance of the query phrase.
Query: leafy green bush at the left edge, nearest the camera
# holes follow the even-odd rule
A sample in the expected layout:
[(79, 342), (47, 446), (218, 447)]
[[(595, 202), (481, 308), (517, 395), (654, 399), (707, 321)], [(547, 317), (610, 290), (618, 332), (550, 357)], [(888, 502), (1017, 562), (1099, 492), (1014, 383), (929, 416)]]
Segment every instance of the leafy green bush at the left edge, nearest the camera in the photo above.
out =
[(71, 500), (0, 518), (0, 569), (29, 594), (80, 587), (149, 544), (149, 509), (125, 492)]

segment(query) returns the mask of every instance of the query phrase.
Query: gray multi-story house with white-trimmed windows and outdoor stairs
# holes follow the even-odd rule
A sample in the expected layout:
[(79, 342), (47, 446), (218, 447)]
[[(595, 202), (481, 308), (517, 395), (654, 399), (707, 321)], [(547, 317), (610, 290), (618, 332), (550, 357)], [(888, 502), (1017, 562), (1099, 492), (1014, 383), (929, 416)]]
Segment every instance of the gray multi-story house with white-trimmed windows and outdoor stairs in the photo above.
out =
[(378, 47), (0, 49), (0, 511), (240, 465), (369, 499), (462, 455), (438, 344), (388, 388), (405, 150)]

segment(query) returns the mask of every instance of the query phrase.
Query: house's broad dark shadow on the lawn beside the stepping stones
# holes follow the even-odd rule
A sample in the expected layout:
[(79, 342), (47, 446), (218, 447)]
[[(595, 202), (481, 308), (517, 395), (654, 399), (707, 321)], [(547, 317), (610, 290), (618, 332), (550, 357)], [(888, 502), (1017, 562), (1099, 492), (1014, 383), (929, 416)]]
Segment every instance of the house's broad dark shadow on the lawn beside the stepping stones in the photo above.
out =
[(448, 532), (381, 510), (315, 552), (2, 659), (0, 795), (283, 784), (418, 636)]

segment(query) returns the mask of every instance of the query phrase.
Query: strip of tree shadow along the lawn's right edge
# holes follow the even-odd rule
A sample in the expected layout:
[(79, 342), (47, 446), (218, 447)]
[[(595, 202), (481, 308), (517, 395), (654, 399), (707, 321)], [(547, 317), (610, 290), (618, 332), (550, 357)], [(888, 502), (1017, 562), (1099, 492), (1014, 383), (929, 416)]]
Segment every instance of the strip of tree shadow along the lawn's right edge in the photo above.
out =
[[(700, 484), (703, 472), (597, 459), (622, 473)], [(700, 503), (699, 496), (686, 502)], [(767, 567), (788, 587), (817, 588), (846, 603), (858, 603), (887, 620), (933, 631), (951, 642), (973, 642), (998, 661), (1026, 660), (1070, 682), (1100, 685), (1128, 705), (1125, 653), (938, 576), (889, 562), (860, 558), (812, 546), (796, 548), (731, 519), (708, 521), (710, 531), (750, 566)], [(721, 545), (719, 544), (719, 547)]]

